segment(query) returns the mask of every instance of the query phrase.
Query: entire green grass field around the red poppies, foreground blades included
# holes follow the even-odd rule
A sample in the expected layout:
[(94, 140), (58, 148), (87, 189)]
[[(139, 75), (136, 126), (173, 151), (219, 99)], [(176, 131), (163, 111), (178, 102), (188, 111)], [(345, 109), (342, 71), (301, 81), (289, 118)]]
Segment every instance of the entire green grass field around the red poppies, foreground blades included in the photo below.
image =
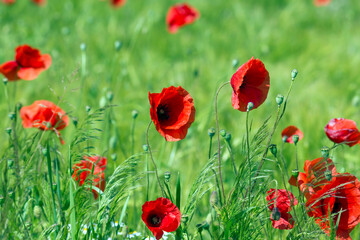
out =
[[(137, 231), (142, 237), (152, 236), (141, 220), (141, 206), (147, 193), (146, 162), (150, 161), (143, 150), (146, 128), (151, 120), (148, 92), (161, 92), (171, 85), (181, 85), (193, 97), (195, 122), (186, 138), (179, 142), (166, 142), (152, 125), (149, 141), (161, 177), (166, 171), (171, 172), (169, 186), (174, 193), (180, 176), (180, 210), (194, 212), (187, 237), (200, 239), (196, 224), (215, 211), (209, 203), (211, 192), (216, 190), (209, 170), (212, 166), (205, 169), (204, 179), (200, 179), (204, 182), (195, 184), (195, 188), (202, 186), (199, 192), (195, 191), (196, 201), (189, 198), (189, 193), (193, 193), (192, 186), (207, 164), (213, 164), (217, 170), (216, 159), (213, 163), (208, 157), (208, 129), (216, 127), (215, 92), (252, 56), (261, 59), (269, 71), (270, 90), (265, 103), (249, 114), (250, 138), (269, 116), (267, 131), (271, 130), (277, 109), (275, 97), (286, 95), (292, 69), (299, 71), (286, 113), (271, 143), (278, 144), (280, 149), (281, 130), (288, 125), (299, 127), (304, 133), (297, 145), (300, 171), (305, 160), (321, 157), (322, 146), (332, 146), (324, 133), (330, 119), (344, 117), (360, 123), (358, 0), (333, 0), (326, 7), (315, 7), (312, 0), (187, 2), (196, 7), (201, 16), (176, 34), (170, 34), (165, 24), (169, 7), (177, 3), (174, 0), (128, 0), (119, 9), (99, 0), (48, 0), (43, 7), (20, 0), (11, 6), (0, 5), (0, 63), (13, 59), (14, 49), (22, 44), (36, 47), (52, 57), (51, 67), (36, 80), (9, 82), (8, 98), (2, 84), (0, 129), (12, 125), (13, 121), (8, 118), (9, 106), (14, 109), (17, 103), (27, 106), (40, 99), (57, 103), (71, 119), (61, 132), (65, 145), (61, 145), (53, 133), (23, 129), (21, 119), (17, 119), (20, 171), (11, 165), (13, 139), (6, 131), (0, 132), (0, 195), (5, 199), (0, 204), (1, 239), (126, 239), (117, 235), (125, 228), (111, 226), (112, 222), (120, 220), (127, 225), (129, 233)], [(86, 45), (85, 50), (80, 49), (81, 44)], [(220, 129), (232, 135), (236, 164), (246, 169), (246, 113), (233, 109), (231, 93), (228, 85), (219, 94), (219, 124)], [(109, 101), (111, 94), (113, 99)], [(89, 113), (86, 106), (91, 107)], [(136, 119), (132, 117), (134, 110), (138, 112)], [(77, 127), (73, 120), (78, 121)], [(94, 124), (89, 124), (92, 121)], [(73, 144), (78, 136), (86, 140)], [(214, 138), (212, 154), (217, 150), (216, 143)], [(222, 139), (221, 144), (222, 174), (228, 194), (236, 180)], [(264, 148), (265, 144), (266, 141), (259, 146)], [(44, 154), (47, 146), (51, 159)], [(254, 152), (256, 147), (253, 142)], [(86, 187), (79, 188), (71, 180), (70, 163), (80, 161), (83, 153), (108, 159), (106, 196), (101, 202), (93, 200)], [(339, 172), (351, 172), (360, 177), (359, 146), (340, 146), (331, 154)], [(294, 145), (285, 144), (283, 155), (291, 174), (296, 166)], [(270, 154), (268, 157), (271, 158)], [(254, 166), (259, 161), (255, 156)], [(54, 163), (58, 163), (57, 166)], [(148, 166), (152, 170), (150, 162)], [(262, 187), (274, 187), (270, 181), (277, 179), (279, 188), (283, 188), (283, 182), (273, 161), (265, 161), (262, 170), (261, 175), (267, 180), (254, 190), (253, 208), (247, 208), (249, 214), (245, 211), (237, 216), (237, 221), (244, 224), (239, 230), (241, 235), (231, 237), (286, 239), (289, 234), (288, 239), (327, 239), (314, 221), (301, 213), (300, 207), (296, 211), (298, 217), (307, 218), (302, 223), (306, 235), (299, 234), (297, 227), (291, 231), (271, 227)], [(161, 192), (154, 172), (149, 175), (148, 198), (155, 200)], [(49, 187), (49, 177), (53, 178), (54, 191)], [(237, 186), (247, 186), (244, 184)], [(298, 196), (295, 190), (293, 193)], [(52, 192), (56, 194), (55, 200)], [(196, 205), (191, 206), (191, 202)], [(74, 223), (76, 227), (73, 228)], [(91, 223), (101, 227), (93, 230), (94, 235), (91, 229), (87, 235), (83, 234), (85, 224), (90, 226)], [(75, 232), (68, 230), (68, 225), (72, 225)], [(226, 226), (230, 228), (231, 224), (224, 228)], [(214, 232), (219, 231), (217, 227)], [(355, 228), (351, 236), (359, 239), (360, 229)], [(205, 231), (202, 237), (210, 239)], [(226, 239), (225, 236), (222, 239)]]

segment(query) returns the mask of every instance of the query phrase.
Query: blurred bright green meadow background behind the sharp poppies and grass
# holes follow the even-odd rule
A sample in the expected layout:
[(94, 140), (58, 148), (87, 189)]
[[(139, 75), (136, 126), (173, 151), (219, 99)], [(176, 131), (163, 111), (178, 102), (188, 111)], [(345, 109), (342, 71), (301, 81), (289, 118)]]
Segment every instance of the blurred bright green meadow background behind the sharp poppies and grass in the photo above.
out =
[[(119, 9), (98, 0), (48, 0), (44, 7), (31, 1), (0, 5), (0, 63), (12, 60), (14, 49), (22, 44), (49, 53), (53, 59), (52, 66), (38, 79), (10, 82), (10, 92), (16, 85), (15, 101), (23, 105), (39, 99), (56, 103), (57, 96), (64, 94), (60, 106), (81, 120), (86, 115), (85, 106), (98, 108), (105, 101), (101, 99), (112, 91), (112, 103), (117, 105), (113, 111), (120, 133), (118, 143), (109, 150), (107, 141), (115, 132), (104, 133), (101, 141), (93, 143), (94, 152), (109, 157), (106, 171), (110, 174), (131, 155), (132, 110), (139, 112), (135, 152), (141, 152), (150, 120), (148, 91), (160, 92), (164, 87), (181, 85), (194, 98), (196, 108), (196, 119), (187, 138), (166, 143), (152, 127), (150, 143), (161, 173), (180, 172), (184, 196), (208, 160), (207, 130), (215, 127), (215, 91), (236, 71), (235, 59), (240, 66), (254, 56), (264, 62), (270, 73), (268, 98), (250, 114), (253, 129), (260, 127), (266, 117), (274, 118), (275, 97), (286, 94), (291, 70), (298, 69), (274, 143), (281, 143), (281, 130), (286, 126), (299, 127), (304, 133), (298, 144), (300, 166), (306, 159), (320, 157), (323, 145), (332, 145), (324, 133), (331, 118), (344, 117), (360, 123), (359, 1), (333, 0), (326, 7), (315, 7), (312, 0), (187, 2), (198, 9), (200, 19), (176, 34), (169, 34), (165, 25), (169, 7), (177, 3), (173, 0), (128, 0)], [(122, 44), (119, 51), (115, 49), (116, 41)], [(86, 44), (84, 53), (81, 43)], [(86, 55), (85, 73), (81, 69), (82, 54)], [(72, 77), (76, 70), (78, 73)], [(73, 81), (69, 83), (69, 79)], [(232, 108), (231, 91), (227, 86), (220, 93), (219, 119), (220, 128), (232, 134), (236, 152), (245, 135), (245, 114)], [(10, 124), (7, 107), (2, 91), (1, 129)], [(67, 143), (73, 130), (70, 124), (62, 131)], [(0, 136), (3, 142), (7, 141), (4, 131)], [(66, 150), (67, 146), (62, 148)], [(294, 150), (292, 145), (285, 145), (289, 169), (295, 167)], [(112, 153), (118, 154), (116, 161), (111, 160)], [(336, 149), (333, 159), (340, 171), (359, 177), (359, 156), (359, 146), (345, 146)], [(233, 175), (226, 154), (224, 165), (228, 188)], [(268, 164), (265, 168), (273, 167)], [(276, 171), (274, 175), (278, 177)], [(201, 211), (199, 208), (199, 216)]]

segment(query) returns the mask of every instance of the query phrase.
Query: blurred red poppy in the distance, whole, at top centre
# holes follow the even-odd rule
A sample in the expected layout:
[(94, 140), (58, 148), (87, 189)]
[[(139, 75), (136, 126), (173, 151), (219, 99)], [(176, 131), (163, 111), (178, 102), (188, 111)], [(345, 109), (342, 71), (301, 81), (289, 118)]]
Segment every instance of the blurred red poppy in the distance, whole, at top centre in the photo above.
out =
[(168, 30), (170, 33), (176, 33), (180, 27), (193, 23), (199, 16), (199, 12), (186, 3), (176, 4), (170, 7), (166, 16)]

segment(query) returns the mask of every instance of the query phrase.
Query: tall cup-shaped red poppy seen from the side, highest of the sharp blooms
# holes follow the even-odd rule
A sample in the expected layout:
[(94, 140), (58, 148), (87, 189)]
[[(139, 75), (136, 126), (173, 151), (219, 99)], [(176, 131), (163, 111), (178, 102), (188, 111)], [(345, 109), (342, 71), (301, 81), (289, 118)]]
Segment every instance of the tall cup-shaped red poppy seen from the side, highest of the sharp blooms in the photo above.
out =
[(255, 109), (265, 101), (269, 92), (269, 72), (259, 59), (252, 57), (236, 70), (231, 77), (231, 86), (234, 109), (246, 112), (249, 102), (254, 104), (252, 109)]

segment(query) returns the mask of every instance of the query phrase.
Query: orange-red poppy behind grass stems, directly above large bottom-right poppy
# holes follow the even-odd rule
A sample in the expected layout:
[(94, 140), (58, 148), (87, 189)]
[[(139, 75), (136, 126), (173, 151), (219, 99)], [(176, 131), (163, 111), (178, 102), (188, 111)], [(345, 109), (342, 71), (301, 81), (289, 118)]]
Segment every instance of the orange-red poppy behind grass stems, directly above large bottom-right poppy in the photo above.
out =
[(325, 171), (330, 171), (332, 176), (337, 174), (333, 161), (328, 158), (327, 164), (324, 158), (317, 158), (312, 161), (306, 160), (304, 164), (304, 173), (300, 172), (296, 179), (291, 176), (289, 183), (293, 186), (299, 186), (301, 192), (309, 199), (315, 192), (321, 190), (329, 181), (325, 177)]

